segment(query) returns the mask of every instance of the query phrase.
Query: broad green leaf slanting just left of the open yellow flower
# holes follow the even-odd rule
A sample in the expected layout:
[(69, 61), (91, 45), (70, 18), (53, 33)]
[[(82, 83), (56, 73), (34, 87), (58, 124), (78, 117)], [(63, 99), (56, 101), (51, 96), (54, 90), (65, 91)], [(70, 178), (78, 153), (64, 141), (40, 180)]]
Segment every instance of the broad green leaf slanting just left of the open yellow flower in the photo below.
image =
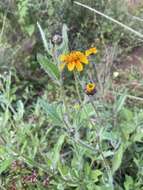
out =
[(58, 67), (55, 64), (50, 63), (48, 58), (41, 54), (37, 55), (37, 60), (49, 77), (60, 85), (60, 72)]

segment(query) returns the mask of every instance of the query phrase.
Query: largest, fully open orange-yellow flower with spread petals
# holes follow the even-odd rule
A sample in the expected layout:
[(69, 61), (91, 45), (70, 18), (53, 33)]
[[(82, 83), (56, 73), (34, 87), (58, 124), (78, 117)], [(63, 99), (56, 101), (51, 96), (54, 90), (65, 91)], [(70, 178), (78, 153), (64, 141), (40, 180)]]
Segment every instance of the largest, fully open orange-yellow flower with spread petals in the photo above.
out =
[(87, 56), (80, 51), (72, 51), (69, 54), (61, 55), (60, 60), (64, 63), (64, 66), (67, 66), (69, 71), (76, 69), (80, 72), (83, 70), (83, 64), (89, 63)]

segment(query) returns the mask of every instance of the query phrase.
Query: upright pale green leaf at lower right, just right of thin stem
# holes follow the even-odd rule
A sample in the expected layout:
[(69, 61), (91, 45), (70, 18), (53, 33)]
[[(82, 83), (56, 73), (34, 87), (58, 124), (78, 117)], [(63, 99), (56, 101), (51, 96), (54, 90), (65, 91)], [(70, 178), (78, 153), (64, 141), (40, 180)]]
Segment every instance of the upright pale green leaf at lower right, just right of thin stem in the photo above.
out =
[(118, 168), (120, 167), (122, 163), (122, 158), (123, 158), (123, 153), (124, 153), (124, 147), (123, 144), (120, 145), (119, 149), (115, 153), (112, 161), (112, 173), (114, 174)]

